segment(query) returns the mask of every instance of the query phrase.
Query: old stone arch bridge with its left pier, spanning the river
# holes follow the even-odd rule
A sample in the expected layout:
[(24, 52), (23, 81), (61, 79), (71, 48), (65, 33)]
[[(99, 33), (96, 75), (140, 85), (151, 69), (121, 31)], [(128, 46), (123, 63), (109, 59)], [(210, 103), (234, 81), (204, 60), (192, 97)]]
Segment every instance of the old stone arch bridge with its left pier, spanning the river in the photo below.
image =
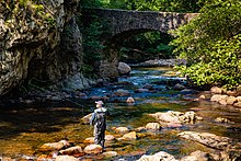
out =
[(101, 61), (100, 72), (105, 78), (116, 78), (118, 76), (117, 55), (124, 39), (148, 31), (168, 34), (169, 31), (190, 22), (198, 13), (88, 9), (83, 11), (83, 16), (89, 22), (91, 18), (88, 15), (95, 15), (107, 22), (110, 34), (103, 38), (103, 45), (105, 45), (103, 54), (106, 59)]

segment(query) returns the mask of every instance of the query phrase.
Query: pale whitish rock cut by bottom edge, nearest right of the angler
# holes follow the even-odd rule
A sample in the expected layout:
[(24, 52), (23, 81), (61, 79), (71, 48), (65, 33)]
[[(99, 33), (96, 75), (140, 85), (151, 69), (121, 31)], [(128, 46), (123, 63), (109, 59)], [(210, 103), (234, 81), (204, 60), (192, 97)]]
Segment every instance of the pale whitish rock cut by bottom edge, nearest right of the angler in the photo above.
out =
[(160, 152), (154, 153), (152, 156), (144, 154), (137, 161), (177, 161), (177, 160), (173, 156), (171, 156), (164, 151), (160, 151)]

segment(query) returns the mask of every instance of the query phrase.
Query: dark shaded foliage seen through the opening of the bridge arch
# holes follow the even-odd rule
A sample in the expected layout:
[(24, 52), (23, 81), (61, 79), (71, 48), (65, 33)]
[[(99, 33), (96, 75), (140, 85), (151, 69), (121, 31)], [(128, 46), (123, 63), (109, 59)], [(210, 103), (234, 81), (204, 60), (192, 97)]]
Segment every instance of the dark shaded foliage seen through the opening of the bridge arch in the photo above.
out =
[(171, 39), (172, 36), (160, 32), (147, 32), (133, 36), (124, 42), (120, 58), (139, 61), (154, 58), (173, 58), (173, 46), (168, 45)]

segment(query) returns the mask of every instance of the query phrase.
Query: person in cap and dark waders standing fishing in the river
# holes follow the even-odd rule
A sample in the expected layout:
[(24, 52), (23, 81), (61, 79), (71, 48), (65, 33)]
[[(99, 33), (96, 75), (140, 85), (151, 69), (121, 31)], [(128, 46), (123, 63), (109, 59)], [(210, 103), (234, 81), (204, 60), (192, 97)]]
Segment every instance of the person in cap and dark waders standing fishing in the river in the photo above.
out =
[(106, 116), (108, 112), (105, 107), (103, 107), (102, 101), (96, 101), (96, 110), (94, 110), (90, 125), (94, 126), (94, 143), (101, 145), (104, 150), (104, 137), (105, 137), (105, 129), (106, 129)]

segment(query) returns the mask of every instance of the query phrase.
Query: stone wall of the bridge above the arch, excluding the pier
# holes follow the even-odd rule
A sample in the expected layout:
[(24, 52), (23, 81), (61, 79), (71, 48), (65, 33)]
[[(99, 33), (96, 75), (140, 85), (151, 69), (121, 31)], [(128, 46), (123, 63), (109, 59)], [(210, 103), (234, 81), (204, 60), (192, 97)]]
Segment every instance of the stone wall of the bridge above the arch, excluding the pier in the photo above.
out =
[(152, 30), (167, 33), (190, 22), (199, 14), (116, 9), (91, 9), (87, 11), (95, 13), (96, 16), (104, 20), (108, 20), (112, 35), (134, 30)]

